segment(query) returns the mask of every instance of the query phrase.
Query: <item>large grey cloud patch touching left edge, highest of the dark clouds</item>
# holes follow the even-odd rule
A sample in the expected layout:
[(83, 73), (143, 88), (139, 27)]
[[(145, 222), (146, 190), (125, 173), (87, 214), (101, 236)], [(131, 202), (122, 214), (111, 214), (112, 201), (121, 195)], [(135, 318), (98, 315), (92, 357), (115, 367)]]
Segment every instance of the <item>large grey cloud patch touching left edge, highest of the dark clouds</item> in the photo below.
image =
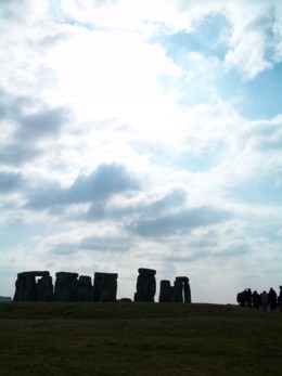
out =
[(57, 137), (72, 111), (66, 106), (48, 107), (34, 98), (12, 98), (0, 92), (0, 114), (3, 127), (14, 130), (0, 146), (0, 159), (3, 165), (17, 166), (46, 152), (39, 148), (38, 142)]

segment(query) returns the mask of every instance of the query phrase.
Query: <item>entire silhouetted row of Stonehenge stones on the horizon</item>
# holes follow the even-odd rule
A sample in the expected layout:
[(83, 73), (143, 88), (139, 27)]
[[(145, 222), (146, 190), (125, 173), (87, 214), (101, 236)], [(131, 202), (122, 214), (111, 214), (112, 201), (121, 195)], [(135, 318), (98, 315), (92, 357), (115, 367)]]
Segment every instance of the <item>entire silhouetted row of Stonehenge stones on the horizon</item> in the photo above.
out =
[[(139, 268), (133, 301), (154, 302), (156, 293), (156, 271)], [(117, 273), (95, 272), (92, 280), (89, 275), (72, 272), (55, 273), (48, 271), (28, 271), (17, 274), (14, 301), (117, 301)], [(123, 298), (120, 301), (132, 301)], [(174, 285), (162, 280), (159, 284), (159, 302), (191, 303), (191, 288), (187, 276), (177, 276)]]

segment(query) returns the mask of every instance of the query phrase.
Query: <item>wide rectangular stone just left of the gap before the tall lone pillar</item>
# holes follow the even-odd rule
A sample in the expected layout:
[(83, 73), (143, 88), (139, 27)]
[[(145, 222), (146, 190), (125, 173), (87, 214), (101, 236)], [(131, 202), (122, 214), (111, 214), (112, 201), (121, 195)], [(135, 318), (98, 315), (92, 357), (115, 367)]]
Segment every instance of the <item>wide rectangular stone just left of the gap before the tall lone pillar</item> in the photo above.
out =
[(116, 301), (117, 273), (94, 273), (94, 301)]

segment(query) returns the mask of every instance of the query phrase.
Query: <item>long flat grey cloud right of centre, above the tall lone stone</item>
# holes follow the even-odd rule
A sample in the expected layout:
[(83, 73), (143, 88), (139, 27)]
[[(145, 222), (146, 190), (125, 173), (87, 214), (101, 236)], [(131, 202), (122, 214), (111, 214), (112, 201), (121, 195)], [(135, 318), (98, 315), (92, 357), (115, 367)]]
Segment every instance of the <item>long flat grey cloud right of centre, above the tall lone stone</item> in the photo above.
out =
[(129, 231), (144, 237), (189, 233), (194, 228), (225, 222), (231, 218), (227, 210), (201, 207), (181, 210), (154, 219), (141, 219), (129, 225)]

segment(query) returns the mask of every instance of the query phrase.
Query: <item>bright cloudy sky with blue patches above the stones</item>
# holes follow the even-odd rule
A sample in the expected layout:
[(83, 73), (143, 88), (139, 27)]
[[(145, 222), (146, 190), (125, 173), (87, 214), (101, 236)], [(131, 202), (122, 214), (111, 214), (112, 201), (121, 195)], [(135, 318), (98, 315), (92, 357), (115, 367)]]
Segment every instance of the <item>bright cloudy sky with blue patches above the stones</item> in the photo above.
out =
[[(282, 2), (0, 0), (0, 295), (139, 268), (282, 284)], [(54, 282), (54, 281), (53, 281)]]

